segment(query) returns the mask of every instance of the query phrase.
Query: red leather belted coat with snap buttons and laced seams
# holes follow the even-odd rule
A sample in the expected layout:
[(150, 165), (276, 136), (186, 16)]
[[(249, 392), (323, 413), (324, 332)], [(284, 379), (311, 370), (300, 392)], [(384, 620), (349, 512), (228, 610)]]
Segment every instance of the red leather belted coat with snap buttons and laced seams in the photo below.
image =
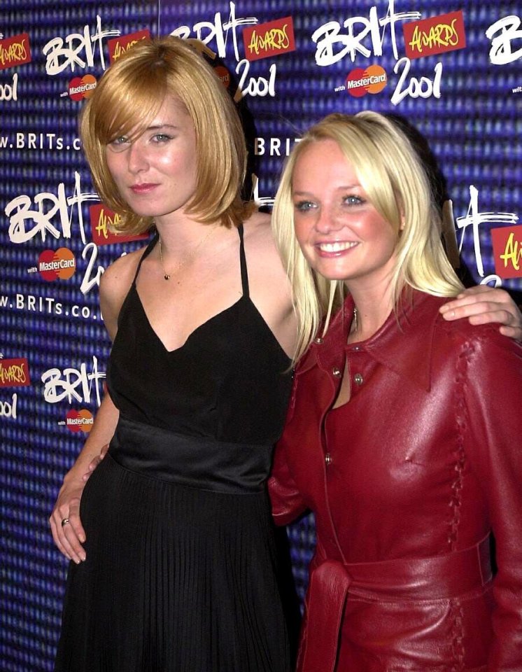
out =
[(348, 297), (295, 374), (269, 488), (316, 514), (299, 671), (522, 671), (522, 348), (442, 302), (346, 345)]

